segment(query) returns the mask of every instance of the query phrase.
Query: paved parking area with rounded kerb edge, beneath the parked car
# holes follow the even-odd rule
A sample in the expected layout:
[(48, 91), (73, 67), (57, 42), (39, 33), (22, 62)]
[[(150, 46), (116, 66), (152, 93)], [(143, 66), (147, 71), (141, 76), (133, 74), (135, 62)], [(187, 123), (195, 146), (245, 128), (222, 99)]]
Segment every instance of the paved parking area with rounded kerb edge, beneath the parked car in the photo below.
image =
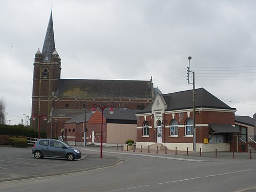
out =
[(116, 157), (99, 158), (82, 152), (80, 160), (48, 158), (35, 159), (31, 148), (0, 147), (0, 182), (47, 175), (80, 172), (117, 163)]

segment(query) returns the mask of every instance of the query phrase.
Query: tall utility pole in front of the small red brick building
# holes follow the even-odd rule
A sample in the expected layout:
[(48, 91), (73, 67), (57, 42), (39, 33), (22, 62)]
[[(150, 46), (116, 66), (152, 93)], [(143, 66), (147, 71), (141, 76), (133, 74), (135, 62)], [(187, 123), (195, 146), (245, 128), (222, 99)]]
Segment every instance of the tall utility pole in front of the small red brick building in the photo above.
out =
[[(188, 84), (193, 84), (193, 152), (196, 152), (196, 91), (195, 91), (195, 71), (190, 70), (191, 56), (188, 57), (187, 80)], [(193, 83), (189, 81), (189, 74), (193, 73)]]

